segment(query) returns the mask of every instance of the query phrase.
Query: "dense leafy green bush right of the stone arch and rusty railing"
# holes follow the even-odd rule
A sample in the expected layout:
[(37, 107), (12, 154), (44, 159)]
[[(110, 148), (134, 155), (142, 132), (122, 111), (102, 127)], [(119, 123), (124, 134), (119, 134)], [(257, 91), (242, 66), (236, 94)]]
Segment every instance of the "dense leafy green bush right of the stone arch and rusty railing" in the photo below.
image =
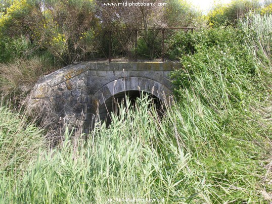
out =
[[(184, 34), (178, 34), (172, 42), (175, 39), (178, 41), (179, 36)], [(172, 74), (176, 87), (199, 87), (194, 89), (203, 95), (203, 101), (220, 109), (225, 109), (229, 104), (245, 110), (248, 109), (250, 98), (265, 97), (260, 94), (262, 85), (256, 83), (263, 71), (246, 43), (246, 36), (242, 30), (232, 27), (195, 32), (191, 35), (194, 46), (190, 44), (184, 48), (186, 55), (180, 55), (184, 69)], [(180, 47), (176, 42), (171, 46), (177, 50)], [(192, 47), (193, 54), (186, 52)], [(199, 84), (199, 77), (203, 79), (203, 84)], [(204, 95), (206, 91), (203, 88), (209, 87), (209, 84), (217, 86), (211, 86), (208, 95)]]

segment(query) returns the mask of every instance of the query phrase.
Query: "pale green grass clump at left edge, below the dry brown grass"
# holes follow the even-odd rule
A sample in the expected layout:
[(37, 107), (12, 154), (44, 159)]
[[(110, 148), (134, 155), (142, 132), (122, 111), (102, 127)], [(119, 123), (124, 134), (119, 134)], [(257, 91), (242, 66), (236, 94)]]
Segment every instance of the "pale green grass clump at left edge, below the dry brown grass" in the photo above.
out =
[(45, 145), (43, 133), (20, 113), (0, 107), (0, 170), (23, 171)]

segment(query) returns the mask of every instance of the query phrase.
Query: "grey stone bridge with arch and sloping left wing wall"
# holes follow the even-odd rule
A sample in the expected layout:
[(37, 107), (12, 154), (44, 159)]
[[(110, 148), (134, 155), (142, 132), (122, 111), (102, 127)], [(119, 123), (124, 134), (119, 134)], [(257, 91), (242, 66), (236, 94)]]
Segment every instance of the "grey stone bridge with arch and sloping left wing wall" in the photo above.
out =
[(35, 108), (48, 118), (57, 118), (62, 127), (83, 125), (88, 130), (97, 116), (105, 120), (113, 109), (113, 98), (137, 97), (143, 91), (169, 103), (171, 83), (167, 75), (180, 67), (174, 62), (69, 65), (38, 80), (30, 94), (29, 107), (32, 112)]

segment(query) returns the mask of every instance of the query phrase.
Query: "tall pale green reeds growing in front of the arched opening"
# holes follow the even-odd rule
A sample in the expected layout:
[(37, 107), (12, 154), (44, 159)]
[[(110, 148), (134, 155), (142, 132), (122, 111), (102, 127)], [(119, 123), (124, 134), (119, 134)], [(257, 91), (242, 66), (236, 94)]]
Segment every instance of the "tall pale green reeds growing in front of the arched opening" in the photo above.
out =
[(38, 202), (43, 197), (71, 203), (106, 203), (109, 197), (208, 199), (201, 192), (203, 178), (188, 168), (190, 152), (179, 145), (178, 135), (167, 133), (168, 124), (157, 122), (160, 119), (148, 104), (143, 98), (134, 111), (121, 109), (120, 118), (112, 116), (110, 128), (98, 125), (87, 141), (71, 140), (66, 133), (63, 144), (40, 153), (13, 186), (2, 178), (2, 190), (15, 189), (2, 199)]

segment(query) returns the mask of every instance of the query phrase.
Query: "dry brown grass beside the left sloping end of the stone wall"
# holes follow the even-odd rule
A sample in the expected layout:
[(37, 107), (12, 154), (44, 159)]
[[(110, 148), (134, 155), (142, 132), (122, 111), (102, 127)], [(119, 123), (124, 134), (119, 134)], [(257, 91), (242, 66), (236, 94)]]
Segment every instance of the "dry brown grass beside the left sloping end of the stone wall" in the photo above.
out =
[[(59, 69), (56, 66), (55, 69)], [(24, 112), (35, 125), (46, 129), (46, 138), (57, 140), (56, 126), (58, 116), (47, 101), (33, 103), (31, 93), (38, 78), (55, 71), (48, 59), (34, 57), (32, 59), (16, 59), (14, 62), (0, 64), (0, 94), (2, 104), (11, 110)], [(55, 124), (55, 126), (53, 125)], [(50, 128), (54, 126), (54, 128)], [(54, 142), (53, 142), (54, 143)]]

